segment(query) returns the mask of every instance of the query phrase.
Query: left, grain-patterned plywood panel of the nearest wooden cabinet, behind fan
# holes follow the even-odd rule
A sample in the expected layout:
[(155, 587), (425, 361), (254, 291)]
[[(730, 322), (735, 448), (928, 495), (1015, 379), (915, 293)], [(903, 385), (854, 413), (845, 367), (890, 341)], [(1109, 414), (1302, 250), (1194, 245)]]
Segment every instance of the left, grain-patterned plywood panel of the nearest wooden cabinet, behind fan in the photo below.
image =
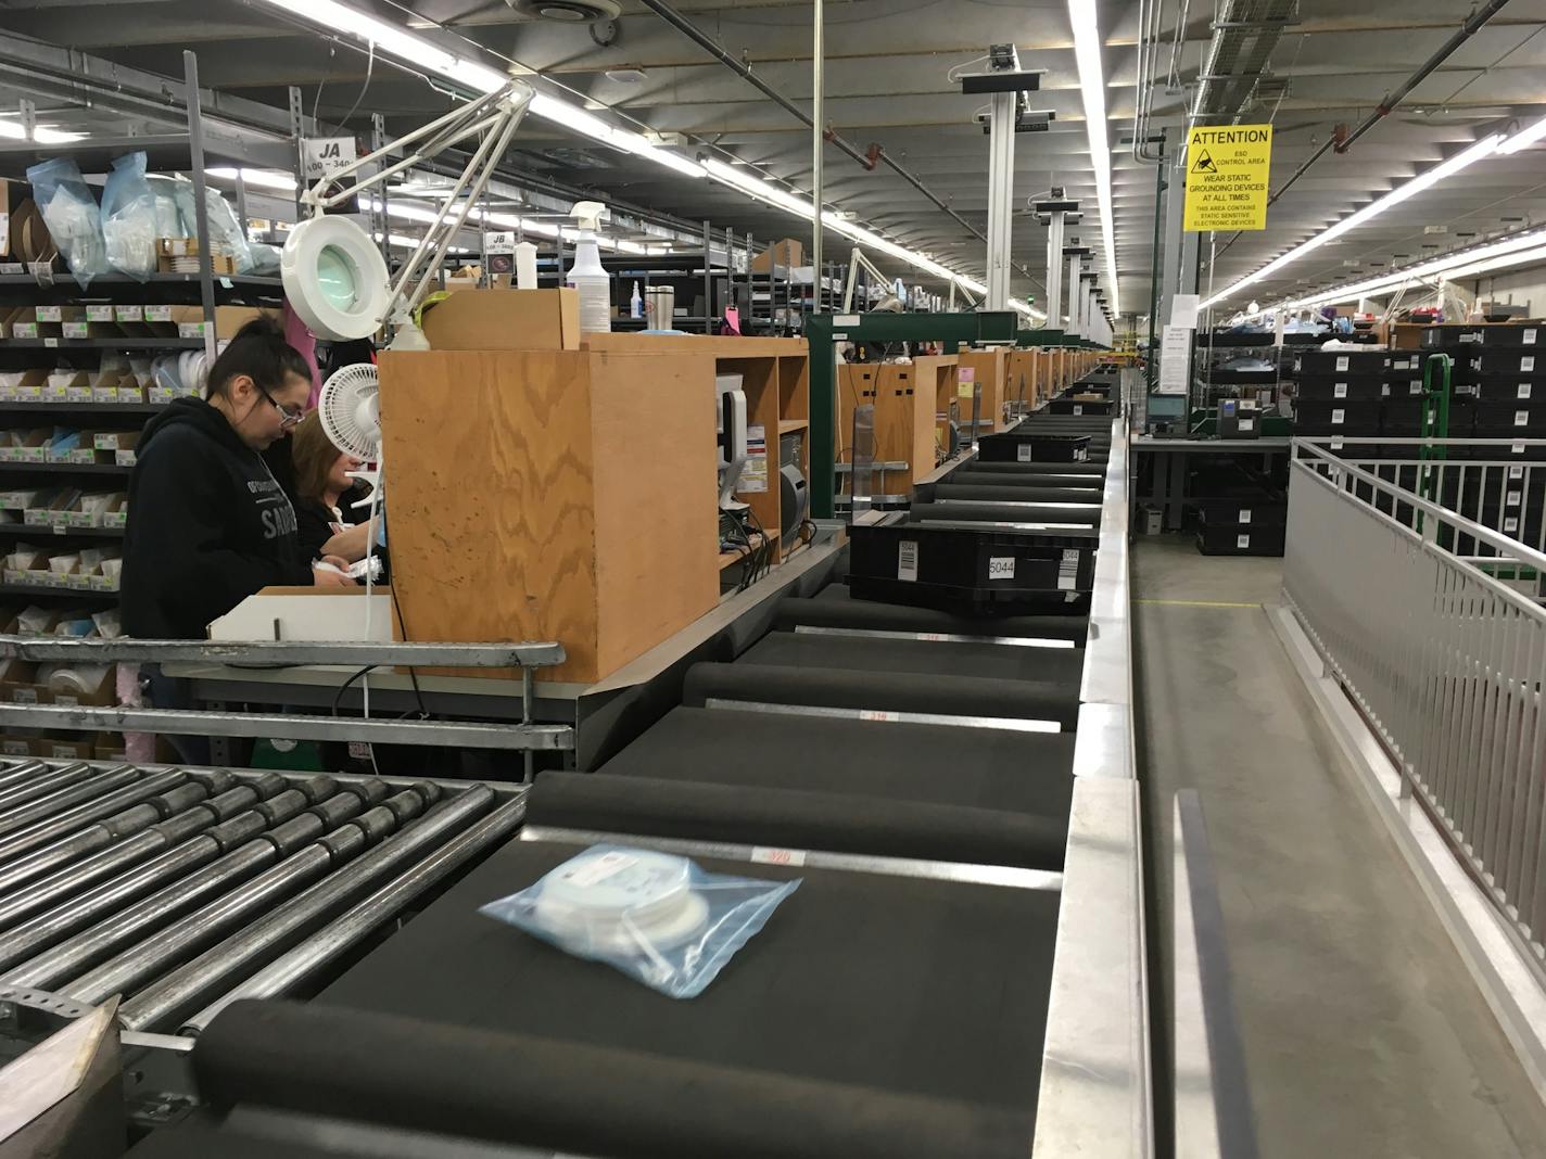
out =
[(558, 640), (555, 678), (597, 678), (589, 355), (386, 351), (380, 380), (405, 630)]

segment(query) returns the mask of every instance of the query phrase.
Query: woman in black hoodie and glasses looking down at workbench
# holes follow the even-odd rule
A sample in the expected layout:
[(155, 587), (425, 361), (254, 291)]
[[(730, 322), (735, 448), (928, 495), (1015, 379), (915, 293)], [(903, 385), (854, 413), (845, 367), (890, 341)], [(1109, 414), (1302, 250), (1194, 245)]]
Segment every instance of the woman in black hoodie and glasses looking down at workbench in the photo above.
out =
[[(352, 584), (301, 558), (295, 510), (263, 462), (300, 422), (309, 393), (305, 359), (263, 318), (215, 360), (207, 399), (176, 399), (145, 423), (128, 481), (127, 635), (203, 640), (212, 620), (258, 589)], [(190, 703), (186, 681), (156, 671), (150, 692), (158, 708)], [(178, 740), (184, 760), (207, 762), (207, 743)]]

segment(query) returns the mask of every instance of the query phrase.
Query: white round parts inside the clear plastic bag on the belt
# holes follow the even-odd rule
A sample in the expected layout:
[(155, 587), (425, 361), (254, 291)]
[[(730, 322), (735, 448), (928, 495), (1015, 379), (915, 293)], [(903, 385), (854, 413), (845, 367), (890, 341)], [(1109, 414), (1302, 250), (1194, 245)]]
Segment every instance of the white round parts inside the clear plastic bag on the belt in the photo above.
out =
[(708, 919), (688, 862), (648, 850), (587, 850), (543, 878), (533, 919), (581, 953), (673, 949)]

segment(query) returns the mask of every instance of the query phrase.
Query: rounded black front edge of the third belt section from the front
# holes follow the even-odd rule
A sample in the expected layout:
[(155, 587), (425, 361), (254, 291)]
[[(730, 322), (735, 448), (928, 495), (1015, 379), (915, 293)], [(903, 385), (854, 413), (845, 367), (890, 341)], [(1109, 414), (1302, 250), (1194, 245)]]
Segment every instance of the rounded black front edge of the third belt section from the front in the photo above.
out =
[(1079, 686), (1067, 680), (1000, 680), (942, 675), (920, 680), (914, 672), (864, 669), (799, 669), (784, 664), (693, 664), (682, 703), (707, 700), (768, 705), (940, 712), (1010, 720), (1053, 720), (1071, 729), (1079, 720)]

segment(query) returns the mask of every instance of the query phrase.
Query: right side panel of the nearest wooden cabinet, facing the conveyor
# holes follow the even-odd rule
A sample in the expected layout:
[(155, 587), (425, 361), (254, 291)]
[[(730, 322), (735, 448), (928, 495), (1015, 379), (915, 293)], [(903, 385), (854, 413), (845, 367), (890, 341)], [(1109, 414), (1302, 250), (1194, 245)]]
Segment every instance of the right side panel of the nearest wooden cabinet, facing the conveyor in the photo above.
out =
[[(591, 360), (595, 678), (643, 655), (719, 601), (711, 372), (702, 355), (597, 354)], [(776, 490), (773, 502), (776, 519)]]

